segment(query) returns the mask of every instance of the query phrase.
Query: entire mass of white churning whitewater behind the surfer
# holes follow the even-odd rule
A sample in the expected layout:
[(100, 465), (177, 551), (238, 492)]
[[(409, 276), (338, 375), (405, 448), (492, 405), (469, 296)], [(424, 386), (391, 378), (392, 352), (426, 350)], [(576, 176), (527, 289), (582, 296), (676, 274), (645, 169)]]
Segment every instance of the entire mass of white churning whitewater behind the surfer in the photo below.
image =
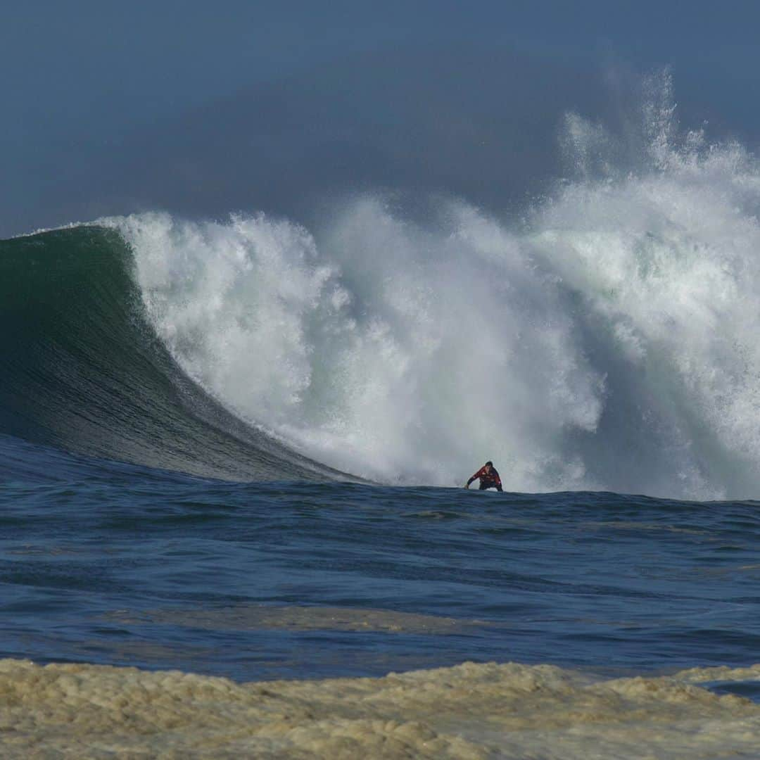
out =
[[(313, 458), (454, 485), (751, 496), (760, 486), (760, 171), (650, 83), (640, 155), (570, 115), (575, 179), (508, 226), (366, 197), (309, 232), (106, 220), (180, 365)], [(634, 166), (632, 170), (629, 165)]]

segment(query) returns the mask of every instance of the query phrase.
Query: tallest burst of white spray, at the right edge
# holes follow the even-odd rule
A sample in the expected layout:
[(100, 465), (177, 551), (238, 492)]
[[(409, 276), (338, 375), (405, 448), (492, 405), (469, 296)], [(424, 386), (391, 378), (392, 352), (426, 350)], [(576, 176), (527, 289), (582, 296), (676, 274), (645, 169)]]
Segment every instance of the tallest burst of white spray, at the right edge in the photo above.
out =
[(735, 142), (679, 131), (667, 75), (645, 86), (638, 169), (600, 162), (622, 154), (619, 141), (572, 117), (582, 179), (534, 208), (530, 223), (529, 244), (577, 300), (587, 354), (606, 378), (597, 439), (612, 448), (591, 447), (599, 467), (584, 461), (595, 473), (612, 459), (629, 467), (629, 480), (601, 476), (617, 488), (752, 495), (760, 171)]

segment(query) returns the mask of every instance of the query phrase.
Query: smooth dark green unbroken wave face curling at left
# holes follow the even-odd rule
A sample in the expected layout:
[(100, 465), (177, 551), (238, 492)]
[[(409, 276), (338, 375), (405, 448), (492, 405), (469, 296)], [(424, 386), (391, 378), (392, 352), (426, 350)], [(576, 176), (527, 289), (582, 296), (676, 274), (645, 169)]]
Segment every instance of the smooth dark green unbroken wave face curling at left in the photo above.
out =
[(0, 242), (0, 432), (68, 451), (226, 480), (328, 480), (220, 407), (144, 317), (114, 230)]

